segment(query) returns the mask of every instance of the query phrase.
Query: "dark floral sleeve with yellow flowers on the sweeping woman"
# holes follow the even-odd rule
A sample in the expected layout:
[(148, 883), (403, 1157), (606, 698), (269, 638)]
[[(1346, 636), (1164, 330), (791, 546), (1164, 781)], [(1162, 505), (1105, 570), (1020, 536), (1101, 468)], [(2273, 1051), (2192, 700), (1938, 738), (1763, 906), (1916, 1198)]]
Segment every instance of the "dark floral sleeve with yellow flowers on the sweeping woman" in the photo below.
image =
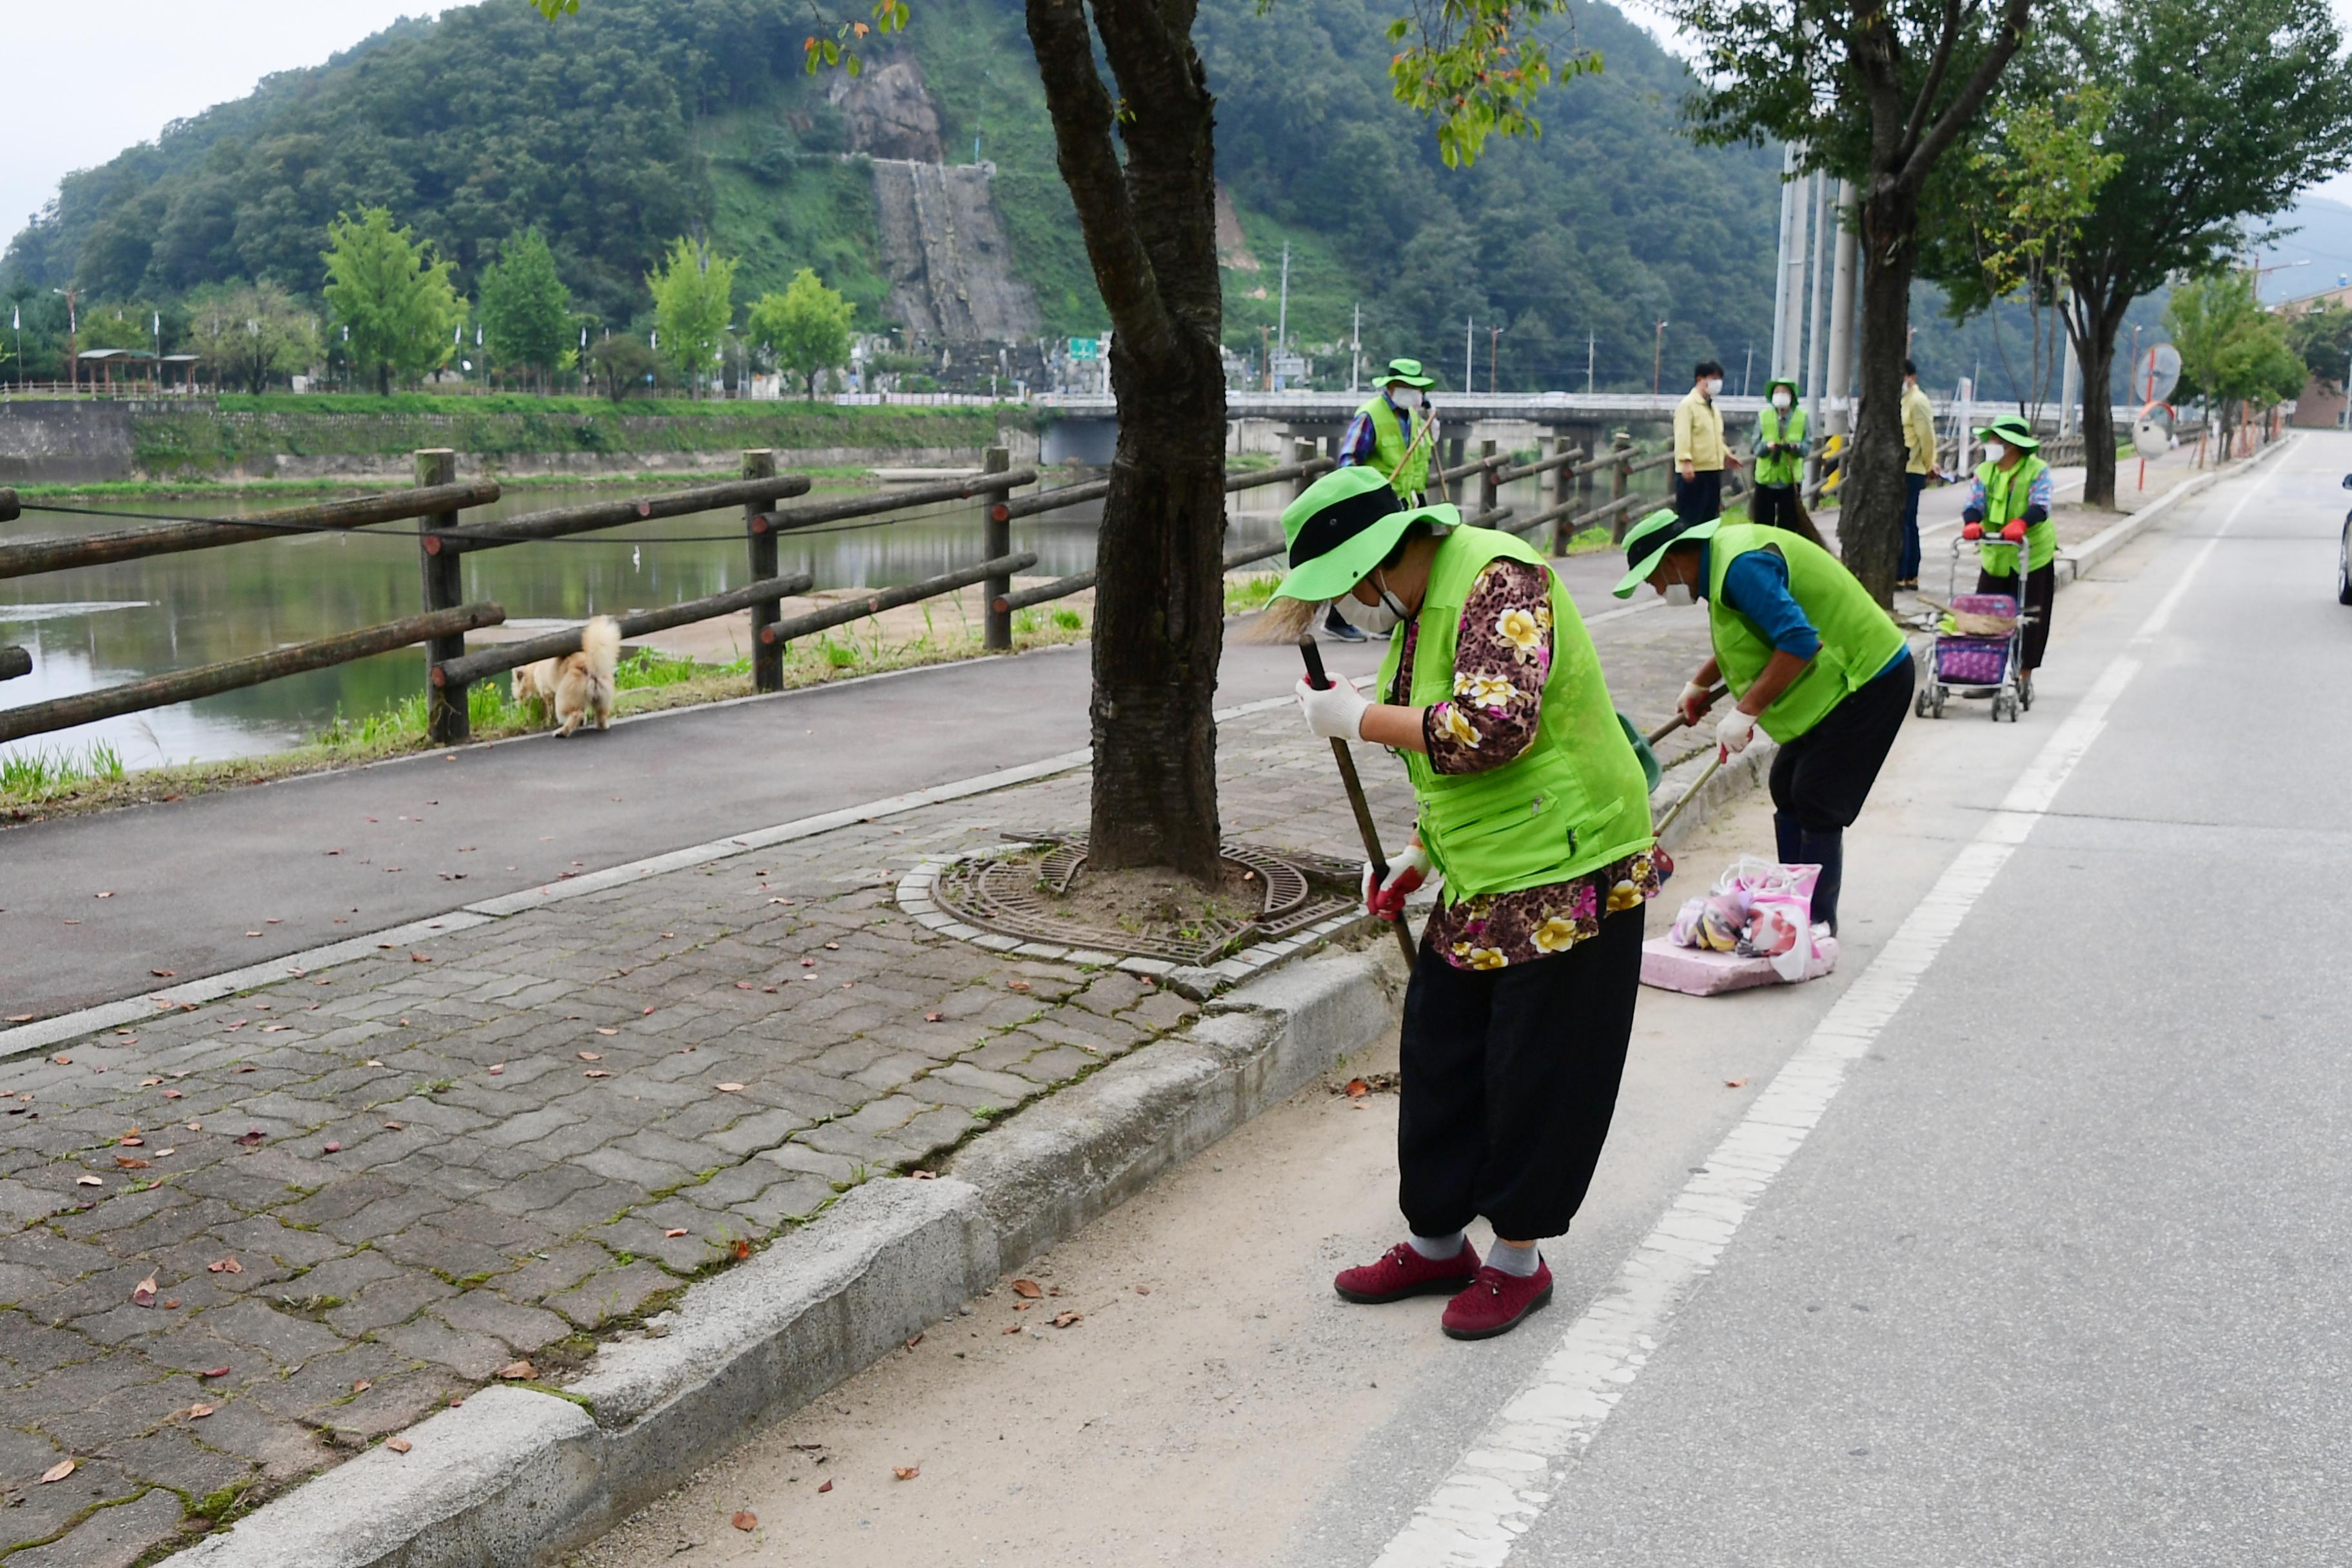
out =
[(1552, 672), (1552, 574), (1515, 559), (1489, 562), (1454, 632), (1454, 696), (1421, 719), (1439, 773), (1498, 769), (1536, 738), (1543, 682)]

